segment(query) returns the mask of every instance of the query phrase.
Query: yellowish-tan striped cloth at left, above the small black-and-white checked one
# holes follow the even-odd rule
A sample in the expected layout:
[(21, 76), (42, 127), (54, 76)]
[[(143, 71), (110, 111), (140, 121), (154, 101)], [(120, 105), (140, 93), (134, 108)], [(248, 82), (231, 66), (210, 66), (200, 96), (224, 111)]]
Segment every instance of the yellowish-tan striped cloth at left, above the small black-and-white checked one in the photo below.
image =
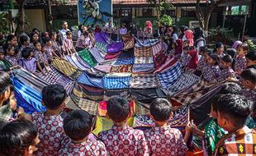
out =
[(65, 60), (54, 59), (53, 66), (65, 76), (68, 76), (73, 80), (77, 80), (78, 76), (80, 76), (82, 73), (81, 70)]

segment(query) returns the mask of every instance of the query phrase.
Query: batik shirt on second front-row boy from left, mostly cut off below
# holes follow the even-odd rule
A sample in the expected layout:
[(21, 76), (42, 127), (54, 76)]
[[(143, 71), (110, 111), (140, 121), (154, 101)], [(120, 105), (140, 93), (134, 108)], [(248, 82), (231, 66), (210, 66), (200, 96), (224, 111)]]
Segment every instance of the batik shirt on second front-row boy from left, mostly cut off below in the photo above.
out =
[(65, 147), (59, 150), (59, 156), (107, 156), (107, 149), (102, 141), (86, 140), (75, 144), (72, 140), (64, 140)]

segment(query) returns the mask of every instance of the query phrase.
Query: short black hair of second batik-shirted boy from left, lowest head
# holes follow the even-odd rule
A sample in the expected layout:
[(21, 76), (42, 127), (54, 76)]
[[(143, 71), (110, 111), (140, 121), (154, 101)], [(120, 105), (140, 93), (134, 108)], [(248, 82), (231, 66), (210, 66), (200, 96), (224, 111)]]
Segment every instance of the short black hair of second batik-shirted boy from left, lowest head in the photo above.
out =
[(92, 116), (83, 110), (73, 110), (64, 118), (63, 127), (71, 140), (83, 140), (92, 130)]

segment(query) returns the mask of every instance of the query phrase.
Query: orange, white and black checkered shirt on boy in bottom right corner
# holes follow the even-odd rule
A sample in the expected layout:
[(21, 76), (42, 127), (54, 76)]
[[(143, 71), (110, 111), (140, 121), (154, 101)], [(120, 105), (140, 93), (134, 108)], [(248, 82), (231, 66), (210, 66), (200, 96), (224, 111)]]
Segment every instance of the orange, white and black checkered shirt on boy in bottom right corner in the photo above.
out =
[(214, 155), (255, 155), (255, 149), (256, 131), (244, 126), (235, 133), (224, 135), (216, 145)]

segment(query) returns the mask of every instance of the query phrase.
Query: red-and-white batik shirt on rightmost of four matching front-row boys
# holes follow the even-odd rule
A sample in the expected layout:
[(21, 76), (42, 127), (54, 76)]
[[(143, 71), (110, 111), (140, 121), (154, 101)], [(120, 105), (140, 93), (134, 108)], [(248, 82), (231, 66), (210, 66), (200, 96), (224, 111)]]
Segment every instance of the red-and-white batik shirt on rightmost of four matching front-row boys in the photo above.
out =
[(145, 138), (149, 146), (149, 154), (152, 156), (183, 156), (187, 151), (182, 133), (170, 126), (152, 127), (145, 131)]

